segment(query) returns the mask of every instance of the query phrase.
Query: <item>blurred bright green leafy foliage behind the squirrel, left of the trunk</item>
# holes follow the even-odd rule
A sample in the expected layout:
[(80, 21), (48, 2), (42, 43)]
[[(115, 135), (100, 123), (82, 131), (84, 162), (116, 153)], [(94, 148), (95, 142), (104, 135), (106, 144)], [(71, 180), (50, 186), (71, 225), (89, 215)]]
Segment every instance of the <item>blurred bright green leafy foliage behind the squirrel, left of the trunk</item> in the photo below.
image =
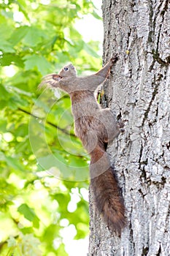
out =
[[(89, 159), (74, 136), (69, 97), (61, 93), (55, 104), (52, 91), (36, 89), (43, 75), (68, 61), (79, 75), (81, 70), (100, 67), (98, 42), (85, 43), (74, 26), (89, 13), (100, 19), (88, 0), (0, 1), (2, 256), (68, 255), (66, 240), (88, 234), (87, 179), (82, 181), (74, 173), (67, 180), (55, 178), (38, 161), (47, 157), (47, 146), (68, 167), (83, 166), (88, 175)], [(58, 166), (58, 172), (61, 169)]]

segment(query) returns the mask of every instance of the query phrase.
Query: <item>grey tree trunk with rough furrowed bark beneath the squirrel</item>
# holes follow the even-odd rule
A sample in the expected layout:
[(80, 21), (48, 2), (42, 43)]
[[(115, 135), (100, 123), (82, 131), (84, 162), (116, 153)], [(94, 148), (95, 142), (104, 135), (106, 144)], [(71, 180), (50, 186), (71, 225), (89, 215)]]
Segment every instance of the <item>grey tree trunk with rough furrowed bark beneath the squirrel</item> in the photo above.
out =
[(109, 233), (90, 192), (89, 255), (170, 255), (170, 2), (104, 0), (104, 63), (120, 54), (103, 103), (125, 121), (109, 156), (127, 227)]

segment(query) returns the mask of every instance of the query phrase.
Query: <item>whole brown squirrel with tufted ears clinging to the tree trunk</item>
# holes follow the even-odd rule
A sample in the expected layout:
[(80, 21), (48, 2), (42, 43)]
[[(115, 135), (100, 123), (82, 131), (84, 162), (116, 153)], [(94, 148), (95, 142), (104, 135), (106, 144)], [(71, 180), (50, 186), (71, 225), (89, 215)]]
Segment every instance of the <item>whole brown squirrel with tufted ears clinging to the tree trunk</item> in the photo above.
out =
[(46, 75), (39, 86), (46, 84), (69, 93), (75, 134), (82, 140), (91, 158), (90, 186), (96, 207), (109, 229), (120, 235), (125, 226), (125, 206), (106, 149), (107, 144), (119, 135), (123, 125), (115, 120), (109, 108), (101, 109), (94, 96), (94, 91), (107, 78), (117, 59), (114, 56), (98, 72), (85, 77), (77, 77), (75, 67), (66, 65), (58, 75)]

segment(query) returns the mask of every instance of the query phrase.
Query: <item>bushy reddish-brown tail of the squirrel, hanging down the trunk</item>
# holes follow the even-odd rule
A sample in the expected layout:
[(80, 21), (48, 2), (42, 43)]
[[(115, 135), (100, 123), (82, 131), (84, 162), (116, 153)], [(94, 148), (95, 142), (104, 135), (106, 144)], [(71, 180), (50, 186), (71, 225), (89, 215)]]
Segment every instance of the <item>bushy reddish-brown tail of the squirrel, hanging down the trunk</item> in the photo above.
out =
[[(102, 214), (109, 230), (120, 235), (125, 226), (125, 206), (117, 185), (114, 169), (109, 164), (107, 153), (97, 146), (90, 154), (91, 187), (99, 214)], [(103, 172), (101, 172), (101, 166)], [(99, 170), (99, 173), (98, 173)]]

